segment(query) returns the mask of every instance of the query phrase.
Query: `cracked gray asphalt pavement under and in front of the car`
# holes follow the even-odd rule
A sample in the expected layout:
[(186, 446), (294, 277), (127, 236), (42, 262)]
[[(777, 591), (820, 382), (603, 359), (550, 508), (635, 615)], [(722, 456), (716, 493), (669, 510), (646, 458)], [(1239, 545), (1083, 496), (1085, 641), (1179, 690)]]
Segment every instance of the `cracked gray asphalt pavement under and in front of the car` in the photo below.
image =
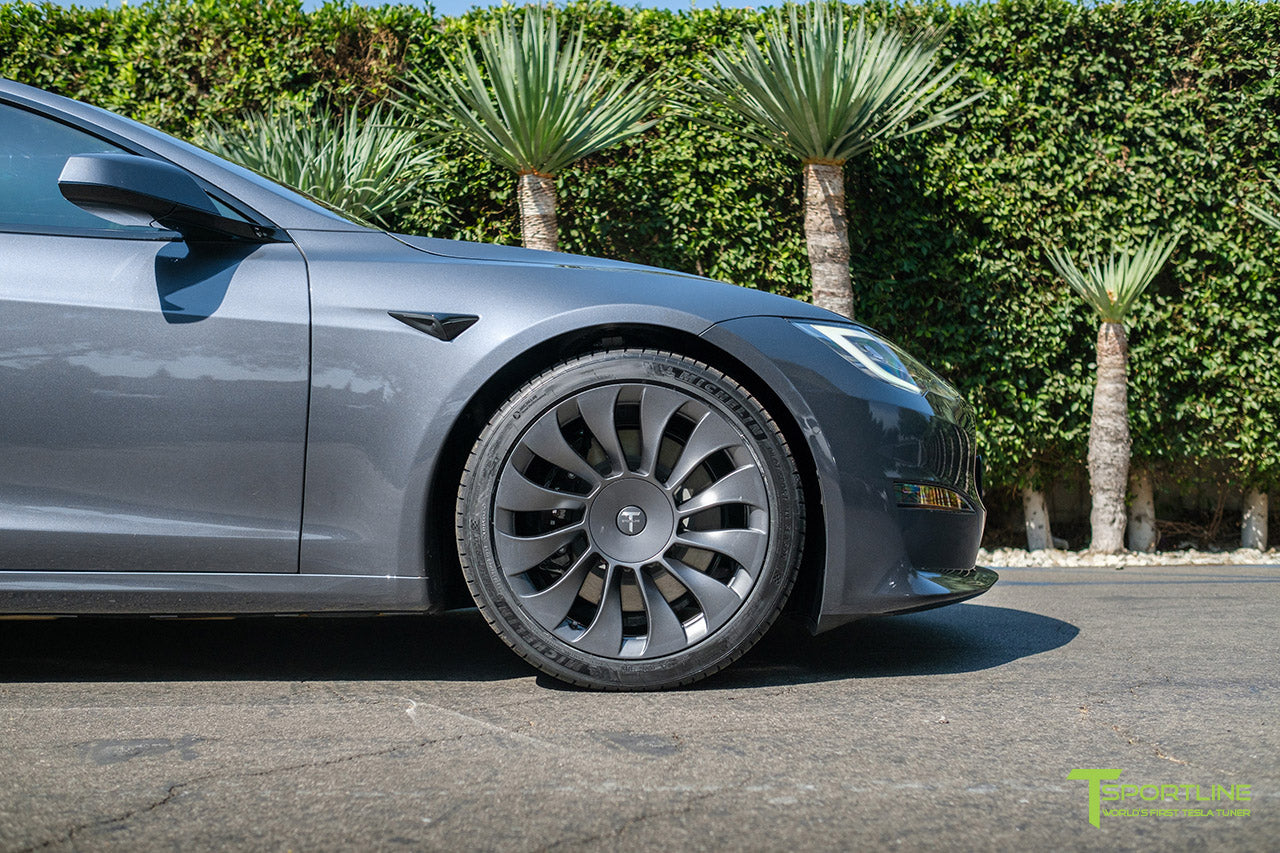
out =
[(1280, 567), (1001, 575), (660, 694), (474, 611), (0, 621), (0, 849), (1280, 849)]

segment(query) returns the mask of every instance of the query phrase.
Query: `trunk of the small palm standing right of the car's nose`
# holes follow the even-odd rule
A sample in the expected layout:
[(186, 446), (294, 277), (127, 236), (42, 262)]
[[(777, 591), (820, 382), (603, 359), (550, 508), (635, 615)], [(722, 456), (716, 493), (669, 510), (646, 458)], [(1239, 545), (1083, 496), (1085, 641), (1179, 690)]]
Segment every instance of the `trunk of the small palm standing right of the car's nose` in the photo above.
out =
[(1089, 423), (1091, 551), (1124, 551), (1129, 482), (1129, 341), (1120, 323), (1098, 327), (1098, 378)]

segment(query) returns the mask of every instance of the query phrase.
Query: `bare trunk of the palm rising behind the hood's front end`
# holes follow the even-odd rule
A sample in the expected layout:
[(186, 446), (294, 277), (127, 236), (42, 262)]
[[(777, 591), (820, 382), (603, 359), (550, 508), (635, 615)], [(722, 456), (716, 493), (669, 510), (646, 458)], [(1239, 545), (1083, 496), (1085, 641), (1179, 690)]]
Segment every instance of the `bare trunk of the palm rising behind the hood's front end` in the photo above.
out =
[(833, 163), (804, 164), (804, 234), (809, 243), (813, 304), (854, 315), (849, 280), (849, 218), (845, 213), (845, 168)]

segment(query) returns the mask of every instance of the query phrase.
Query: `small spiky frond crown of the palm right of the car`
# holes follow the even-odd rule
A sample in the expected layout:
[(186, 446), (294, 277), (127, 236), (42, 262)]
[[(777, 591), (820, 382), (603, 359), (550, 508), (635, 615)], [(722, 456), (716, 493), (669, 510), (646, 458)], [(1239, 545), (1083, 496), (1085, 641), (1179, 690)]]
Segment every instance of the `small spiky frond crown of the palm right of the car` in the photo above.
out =
[(1134, 302), (1178, 247), (1179, 234), (1155, 234), (1133, 251), (1094, 257), (1082, 268), (1062, 248), (1046, 248), (1048, 263), (1103, 323), (1124, 323)]

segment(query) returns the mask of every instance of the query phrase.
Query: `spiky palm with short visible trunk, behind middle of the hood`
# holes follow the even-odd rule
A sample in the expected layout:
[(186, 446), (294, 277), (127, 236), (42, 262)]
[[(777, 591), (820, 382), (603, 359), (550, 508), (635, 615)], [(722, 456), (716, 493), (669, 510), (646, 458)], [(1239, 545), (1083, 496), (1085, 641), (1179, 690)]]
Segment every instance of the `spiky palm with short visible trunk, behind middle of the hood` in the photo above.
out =
[(554, 251), (557, 173), (653, 127), (644, 118), (658, 99), (646, 81), (605, 68), (602, 49), (584, 49), (581, 27), (561, 44), (554, 9), (525, 9), (520, 28), (508, 9), (477, 40), (479, 55), (463, 46), (461, 63), (442, 54), (434, 78), (410, 73), (401, 102), (438, 138), (520, 175), (524, 243)]

